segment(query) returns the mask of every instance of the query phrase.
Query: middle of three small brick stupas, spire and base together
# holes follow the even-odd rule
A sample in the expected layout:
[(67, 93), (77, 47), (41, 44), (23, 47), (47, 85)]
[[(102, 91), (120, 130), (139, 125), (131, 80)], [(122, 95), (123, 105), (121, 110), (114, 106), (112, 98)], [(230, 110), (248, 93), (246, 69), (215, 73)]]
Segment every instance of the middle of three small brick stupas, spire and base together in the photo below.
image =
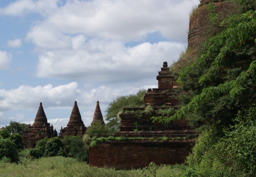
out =
[(63, 139), (65, 136), (83, 136), (85, 131), (86, 127), (75, 101), (67, 127), (63, 129), (61, 127), (59, 138)]

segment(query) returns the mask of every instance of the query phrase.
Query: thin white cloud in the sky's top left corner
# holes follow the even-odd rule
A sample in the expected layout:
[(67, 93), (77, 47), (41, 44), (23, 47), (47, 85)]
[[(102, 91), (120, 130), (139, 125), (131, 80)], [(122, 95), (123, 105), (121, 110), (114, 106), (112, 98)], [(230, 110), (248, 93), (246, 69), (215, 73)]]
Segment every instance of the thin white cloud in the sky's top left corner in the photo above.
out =
[(0, 15), (21, 16), (30, 12), (46, 15), (58, 7), (57, 2), (58, 0), (18, 0), (0, 8)]

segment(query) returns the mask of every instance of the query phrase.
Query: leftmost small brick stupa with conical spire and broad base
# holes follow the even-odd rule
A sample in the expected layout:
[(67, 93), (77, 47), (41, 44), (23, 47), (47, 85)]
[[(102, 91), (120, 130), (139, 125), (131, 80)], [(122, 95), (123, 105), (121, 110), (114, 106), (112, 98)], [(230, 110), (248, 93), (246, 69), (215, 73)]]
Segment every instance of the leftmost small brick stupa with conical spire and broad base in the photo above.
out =
[(56, 137), (57, 131), (53, 130), (53, 126), (47, 122), (46, 115), (42, 106), (42, 102), (39, 105), (37, 115), (33, 125), (28, 125), (23, 134), (23, 146), (24, 148), (34, 148), (37, 141), (42, 140), (45, 137)]

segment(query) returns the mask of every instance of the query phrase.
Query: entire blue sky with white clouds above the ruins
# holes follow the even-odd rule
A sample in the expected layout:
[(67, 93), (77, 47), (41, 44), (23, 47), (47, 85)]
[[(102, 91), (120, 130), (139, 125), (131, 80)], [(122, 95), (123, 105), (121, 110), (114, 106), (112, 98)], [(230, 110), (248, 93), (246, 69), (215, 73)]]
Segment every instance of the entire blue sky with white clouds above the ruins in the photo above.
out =
[(157, 88), (187, 46), (199, 0), (0, 1), (0, 127), (33, 124), (42, 102), (57, 132), (75, 100), (86, 127), (99, 100)]

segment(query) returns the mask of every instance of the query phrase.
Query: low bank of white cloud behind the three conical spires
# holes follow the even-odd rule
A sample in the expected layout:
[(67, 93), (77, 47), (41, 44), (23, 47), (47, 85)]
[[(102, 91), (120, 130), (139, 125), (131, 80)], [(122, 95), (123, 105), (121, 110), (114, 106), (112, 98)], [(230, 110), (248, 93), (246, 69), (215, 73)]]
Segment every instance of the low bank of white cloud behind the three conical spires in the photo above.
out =
[[(59, 131), (61, 126), (66, 127), (75, 100), (84, 124), (89, 126), (97, 100), (100, 101), (101, 112), (104, 115), (105, 109), (113, 99), (119, 95), (135, 94), (138, 90), (147, 87), (143, 86), (146, 83), (149, 82), (140, 83), (140, 87), (136, 87), (136, 84), (121, 83), (112, 86), (102, 85), (91, 89), (87, 87), (78, 89), (78, 84), (72, 82), (56, 87), (47, 84), (36, 87), (22, 85), (10, 90), (0, 89), (0, 126), (8, 125), (11, 120), (32, 124), (39, 103), (42, 102), (48, 122), (51, 122)], [(156, 86), (153, 85), (153, 87)], [(12, 114), (8, 116), (10, 112)], [(31, 116), (25, 116), (27, 114), (24, 112), (29, 112)]]

